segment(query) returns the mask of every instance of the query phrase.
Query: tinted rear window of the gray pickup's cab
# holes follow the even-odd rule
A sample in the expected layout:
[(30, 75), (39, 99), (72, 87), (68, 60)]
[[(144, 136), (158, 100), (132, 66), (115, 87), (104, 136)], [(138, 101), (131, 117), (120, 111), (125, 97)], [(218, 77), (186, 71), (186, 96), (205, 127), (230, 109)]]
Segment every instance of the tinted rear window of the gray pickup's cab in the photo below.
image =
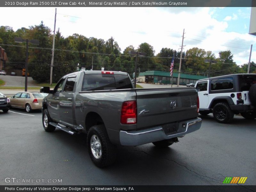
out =
[(132, 83), (127, 75), (85, 74), (82, 91), (109, 89), (131, 89)]

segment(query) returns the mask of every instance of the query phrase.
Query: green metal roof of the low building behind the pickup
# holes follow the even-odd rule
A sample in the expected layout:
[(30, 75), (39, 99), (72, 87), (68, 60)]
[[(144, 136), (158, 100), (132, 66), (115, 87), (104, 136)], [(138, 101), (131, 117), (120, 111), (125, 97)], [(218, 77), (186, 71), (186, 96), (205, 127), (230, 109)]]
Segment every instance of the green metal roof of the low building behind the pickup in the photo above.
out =
[[(146, 76), (146, 75), (169, 77), (170, 76), (170, 72), (165, 72), (165, 71), (145, 71), (145, 72), (141, 72), (139, 76)], [(173, 77), (178, 77), (178, 73), (173, 73)], [(205, 76), (198, 76), (198, 75), (188, 75), (188, 74), (180, 73), (180, 78), (199, 80), (199, 79), (205, 79), (207, 77), (205, 77)]]

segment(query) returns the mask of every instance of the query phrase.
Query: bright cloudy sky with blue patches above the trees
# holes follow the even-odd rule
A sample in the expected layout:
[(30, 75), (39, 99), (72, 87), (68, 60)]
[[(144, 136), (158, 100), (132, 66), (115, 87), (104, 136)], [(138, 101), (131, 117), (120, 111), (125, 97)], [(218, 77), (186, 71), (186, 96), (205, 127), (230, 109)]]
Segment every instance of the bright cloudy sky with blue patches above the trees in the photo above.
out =
[[(53, 31), (54, 14), (54, 7), (2, 8), (0, 25), (16, 31), (43, 21)], [(230, 50), (243, 65), (251, 44), (251, 61), (256, 62), (256, 36), (248, 34), (250, 16), (250, 7), (57, 7), (56, 30), (64, 37), (77, 33), (106, 41), (112, 36), (122, 52), (146, 42), (156, 55), (165, 47), (178, 50), (185, 29), (183, 51), (198, 47), (218, 58), (220, 51)]]

